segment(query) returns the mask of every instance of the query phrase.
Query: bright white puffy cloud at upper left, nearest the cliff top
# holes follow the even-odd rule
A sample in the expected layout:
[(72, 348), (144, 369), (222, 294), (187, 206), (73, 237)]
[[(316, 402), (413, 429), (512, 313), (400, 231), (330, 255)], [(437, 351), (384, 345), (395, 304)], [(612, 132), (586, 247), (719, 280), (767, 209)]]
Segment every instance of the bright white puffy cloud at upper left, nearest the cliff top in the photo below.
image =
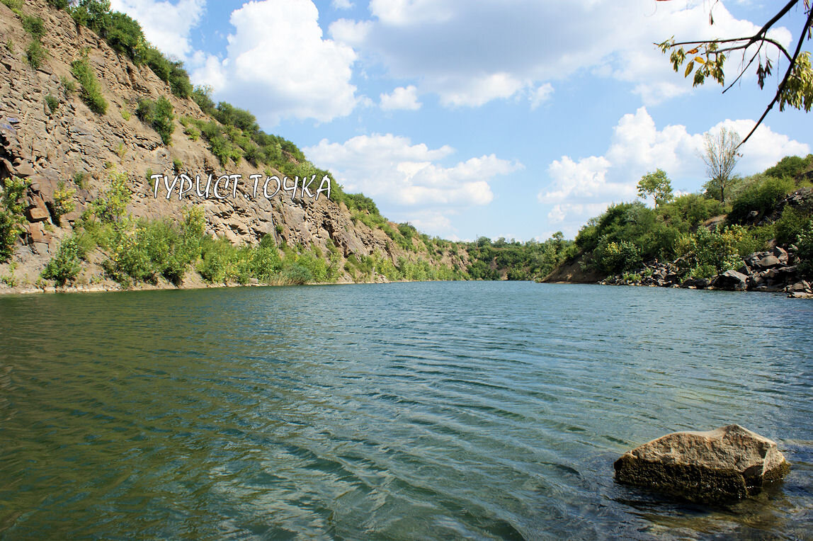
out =
[(306, 0), (248, 2), (232, 12), (226, 58), (208, 56), (193, 80), (211, 84), (219, 99), (251, 110), (266, 126), (349, 115), (359, 102), (350, 84), (356, 54), (323, 39), (318, 18)]

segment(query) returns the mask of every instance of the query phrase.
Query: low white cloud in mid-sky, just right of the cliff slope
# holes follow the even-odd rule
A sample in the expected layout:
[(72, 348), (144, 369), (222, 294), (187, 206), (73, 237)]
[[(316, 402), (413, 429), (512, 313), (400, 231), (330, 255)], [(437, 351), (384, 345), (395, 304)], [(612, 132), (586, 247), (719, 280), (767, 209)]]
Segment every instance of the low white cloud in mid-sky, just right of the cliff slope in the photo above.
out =
[(440, 162), (454, 154), (450, 146), (429, 149), (389, 133), (355, 136), (341, 144), (323, 139), (304, 151), (333, 171), (348, 191), (363, 192), (387, 206), (419, 210), (486, 205), (493, 199), (489, 186), (493, 177), (523, 167), (494, 154), (447, 167)]

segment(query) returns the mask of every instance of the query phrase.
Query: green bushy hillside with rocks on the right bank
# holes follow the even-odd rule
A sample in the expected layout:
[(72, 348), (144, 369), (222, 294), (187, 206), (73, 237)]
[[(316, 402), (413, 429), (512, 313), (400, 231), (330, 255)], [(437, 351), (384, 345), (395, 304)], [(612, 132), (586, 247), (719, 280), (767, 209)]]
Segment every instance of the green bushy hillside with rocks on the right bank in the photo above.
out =
[[(576, 253), (544, 281), (709, 287), (736, 271), (742, 288), (810, 290), (803, 280), (813, 279), (813, 154), (735, 179), (727, 193), (725, 202), (706, 191), (656, 209), (612, 205), (581, 228)], [(769, 256), (782, 261), (756, 263)]]

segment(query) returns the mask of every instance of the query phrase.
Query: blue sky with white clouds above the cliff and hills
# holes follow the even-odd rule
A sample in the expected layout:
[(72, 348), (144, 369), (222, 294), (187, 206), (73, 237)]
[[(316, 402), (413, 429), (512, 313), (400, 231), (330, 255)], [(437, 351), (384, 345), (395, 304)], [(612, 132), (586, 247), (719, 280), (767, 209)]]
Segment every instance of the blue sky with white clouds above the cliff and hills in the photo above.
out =
[[(389, 219), (454, 240), (572, 238), (657, 167), (697, 192), (703, 133), (745, 136), (778, 83), (760, 91), (752, 69), (725, 95), (693, 89), (653, 45), (750, 35), (779, 8), (757, 0), (111, 3), (215, 101), (251, 110)], [(802, 15), (772, 36), (795, 46)], [(810, 153), (810, 125), (775, 108), (737, 172)]]

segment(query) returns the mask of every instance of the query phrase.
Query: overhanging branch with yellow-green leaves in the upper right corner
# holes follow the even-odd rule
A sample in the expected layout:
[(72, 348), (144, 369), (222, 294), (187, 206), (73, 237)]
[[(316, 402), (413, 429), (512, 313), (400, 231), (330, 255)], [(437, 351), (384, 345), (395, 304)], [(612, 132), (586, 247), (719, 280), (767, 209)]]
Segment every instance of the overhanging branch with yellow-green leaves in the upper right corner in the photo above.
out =
[[(656, 0), (658, 2), (669, 2), (670, 0)], [(767, 32), (788, 12), (793, 6), (804, 4), (804, 13), (806, 15), (805, 24), (802, 25), (802, 32), (799, 32), (798, 42), (796, 44), (793, 54), (778, 41), (767, 37)], [(709, 11), (709, 24), (714, 24), (714, 15)], [(763, 122), (768, 112), (773, 108), (776, 103), (779, 103), (779, 110), (785, 110), (785, 106), (795, 107), (796, 109), (804, 109), (810, 112), (813, 106), (813, 68), (811, 68), (811, 54), (807, 51), (802, 52), (802, 43), (806, 39), (813, 37), (813, 10), (811, 10), (811, 0), (790, 0), (783, 6), (780, 11), (776, 13), (771, 19), (763, 25), (762, 28), (754, 33), (752, 36), (745, 37), (729, 37), (724, 39), (714, 40), (696, 40), (696, 41), (679, 41), (676, 42), (674, 37), (663, 41), (663, 43), (656, 43), (663, 54), (672, 51), (670, 60), (672, 67), (675, 71), (686, 62), (687, 58), (689, 63), (686, 64), (684, 76), (688, 77), (694, 71), (693, 86), (703, 84), (706, 77), (711, 77), (725, 87), (725, 74), (724, 63), (726, 54), (735, 51), (741, 51), (742, 64), (737, 77), (731, 84), (724, 88), (723, 93), (726, 93), (746, 72), (746, 70), (757, 62), (757, 83), (759, 88), (762, 89), (765, 85), (767, 77), (771, 76), (773, 69), (773, 62), (767, 56), (768, 45), (774, 45), (779, 54), (788, 60), (788, 67), (785, 70), (785, 76), (782, 77), (779, 85), (776, 87), (776, 94), (771, 102), (767, 104), (762, 116), (759, 117), (754, 128), (748, 133), (739, 145), (744, 144), (750, 136)], [(755, 46), (756, 50), (752, 47)], [(685, 48), (688, 47), (689, 50)], [(750, 56), (750, 60), (747, 60)], [(695, 69), (697, 66), (697, 69)]]

